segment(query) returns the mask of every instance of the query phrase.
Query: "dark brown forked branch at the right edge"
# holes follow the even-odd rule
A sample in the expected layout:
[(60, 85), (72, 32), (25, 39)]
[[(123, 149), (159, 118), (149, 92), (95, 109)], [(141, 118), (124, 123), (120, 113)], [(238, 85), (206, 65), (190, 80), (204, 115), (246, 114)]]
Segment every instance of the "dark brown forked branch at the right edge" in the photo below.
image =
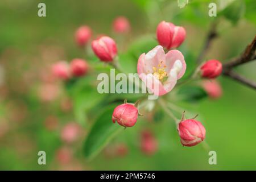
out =
[(222, 74), (233, 78), (241, 82), (244, 85), (247, 85), (253, 89), (256, 89), (256, 82), (247, 80), (247, 78), (238, 75), (237, 73), (233, 72), (232, 69), (237, 67), (238, 65), (248, 63), (250, 61), (255, 60), (255, 49), (256, 49), (256, 36), (254, 37), (253, 41), (246, 47), (245, 51), (242, 53), (240, 57), (236, 57), (228, 63), (223, 64), (223, 71)]

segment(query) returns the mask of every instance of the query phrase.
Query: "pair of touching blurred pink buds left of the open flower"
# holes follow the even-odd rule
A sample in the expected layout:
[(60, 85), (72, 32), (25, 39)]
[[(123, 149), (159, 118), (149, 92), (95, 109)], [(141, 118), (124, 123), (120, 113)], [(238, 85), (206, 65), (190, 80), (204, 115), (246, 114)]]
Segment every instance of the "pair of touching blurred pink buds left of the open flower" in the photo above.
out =
[(52, 65), (52, 73), (61, 80), (69, 80), (71, 77), (81, 77), (88, 72), (89, 65), (83, 59), (73, 59), (70, 64), (59, 61)]

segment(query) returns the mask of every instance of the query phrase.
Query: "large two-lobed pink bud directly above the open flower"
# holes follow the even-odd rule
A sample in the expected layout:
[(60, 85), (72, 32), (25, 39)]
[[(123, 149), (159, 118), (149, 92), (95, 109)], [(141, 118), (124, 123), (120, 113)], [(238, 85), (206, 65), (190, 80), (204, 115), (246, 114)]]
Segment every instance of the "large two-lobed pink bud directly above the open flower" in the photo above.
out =
[(171, 49), (179, 47), (185, 40), (186, 31), (183, 27), (175, 26), (170, 22), (162, 21), (156, 28), (156, 36), (161, 46)]

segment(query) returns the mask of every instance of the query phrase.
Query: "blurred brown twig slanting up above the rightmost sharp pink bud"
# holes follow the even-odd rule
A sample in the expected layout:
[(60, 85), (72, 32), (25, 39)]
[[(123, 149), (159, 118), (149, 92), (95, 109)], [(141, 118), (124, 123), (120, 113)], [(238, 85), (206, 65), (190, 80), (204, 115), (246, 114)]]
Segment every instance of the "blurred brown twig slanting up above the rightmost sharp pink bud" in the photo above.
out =
[(208, 32), (207, 38), (205, 40), (204, 47), (202, 48), (202, 50), (201, 50), (201, 52), (200, 52), (200, 54), (199, 54), (199, 56), (198, 56), (198, 58), (196, 60), (197, 64), (201, 63), (203, 57), (205, 56), (205, 54), (207, 53), (207, 50), (210, 47), (210, 43), (212, 43), (212, 40), (217, 37), (216, 26), (217, 26), (217, 22), (214, 22), (210, 26), (210, 31)]

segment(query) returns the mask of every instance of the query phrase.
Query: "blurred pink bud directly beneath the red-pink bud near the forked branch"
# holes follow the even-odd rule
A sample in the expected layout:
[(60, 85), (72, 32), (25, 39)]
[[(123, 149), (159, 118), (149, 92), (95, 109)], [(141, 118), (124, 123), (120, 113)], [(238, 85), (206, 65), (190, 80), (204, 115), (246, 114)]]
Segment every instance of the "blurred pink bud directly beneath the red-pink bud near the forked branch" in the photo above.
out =
[(221, 85), (216, 80), (204, 80), (203, 88), (210, 98), (216, 99), (222, 96)]

